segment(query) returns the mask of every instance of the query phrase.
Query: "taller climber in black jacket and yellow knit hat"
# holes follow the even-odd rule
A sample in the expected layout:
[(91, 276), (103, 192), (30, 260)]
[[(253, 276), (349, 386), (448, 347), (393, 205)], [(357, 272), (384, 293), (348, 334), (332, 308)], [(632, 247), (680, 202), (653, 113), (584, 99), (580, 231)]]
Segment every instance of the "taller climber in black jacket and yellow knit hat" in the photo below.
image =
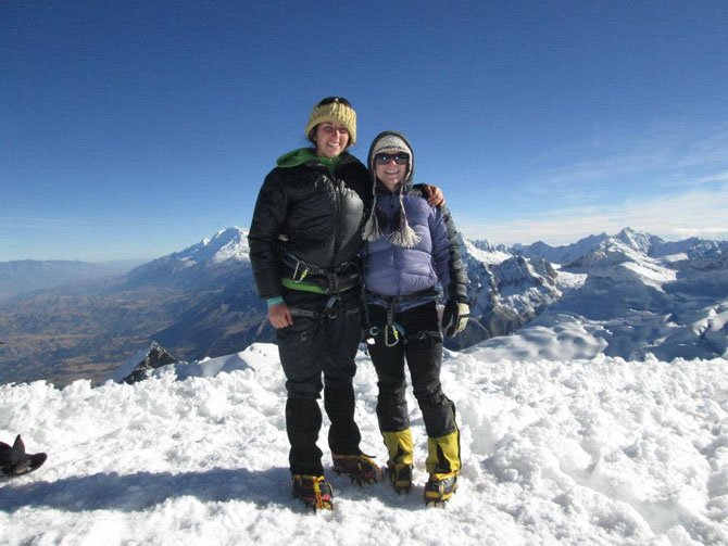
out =
[[(314, 508), (330, 509), (331, 486), (316, 445), (322, 390), (334, 470), (360, 484), (379, 473), (359, 446), (353, 389), (362, 312), (359, 252), (372, 186), (366, 167), (347, 152), (356, 141), (356, 113), (349, 101), (318, 102), (305, 134), (313, 148), (283, 155), (266, 176), (249, 243), (287, 379), (293, 494)], [(439, 191), (434, 200), (442, 201)]]

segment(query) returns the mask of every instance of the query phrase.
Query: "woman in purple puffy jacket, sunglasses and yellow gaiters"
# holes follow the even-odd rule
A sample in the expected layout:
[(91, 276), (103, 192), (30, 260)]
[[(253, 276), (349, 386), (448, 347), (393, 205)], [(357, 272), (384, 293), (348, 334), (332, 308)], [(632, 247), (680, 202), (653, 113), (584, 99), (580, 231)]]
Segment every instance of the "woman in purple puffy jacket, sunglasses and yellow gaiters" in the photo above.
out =
[[(368, 154), (375, 206), (366, 223), (363, 252), (367, 343), (377, 370), (377, 418), (398, 493), (412, 487), (413, 440), (405, 399), (406, 360), (428, 436), (425, 501), (448, 500), (461, 468), (455, 406), (442, 392), (442, 330), (467, 322), (467, 277), (455, 226), (444, 205), (427, 204), (413, 188), (414, 153), (403, 135), (378, 135)], [(442, 330), (437, 300), (442, 287)]]

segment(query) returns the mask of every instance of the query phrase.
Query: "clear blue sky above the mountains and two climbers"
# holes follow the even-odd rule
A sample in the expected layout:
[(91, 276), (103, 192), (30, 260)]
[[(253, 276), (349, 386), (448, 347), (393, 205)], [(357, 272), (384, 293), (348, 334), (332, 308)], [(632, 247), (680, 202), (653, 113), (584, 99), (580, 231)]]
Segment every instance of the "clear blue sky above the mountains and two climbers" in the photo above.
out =
[(347, 97), (494, 243), (728, 239), (728, 2), (0, 1), (0, 262), (250, 225)]

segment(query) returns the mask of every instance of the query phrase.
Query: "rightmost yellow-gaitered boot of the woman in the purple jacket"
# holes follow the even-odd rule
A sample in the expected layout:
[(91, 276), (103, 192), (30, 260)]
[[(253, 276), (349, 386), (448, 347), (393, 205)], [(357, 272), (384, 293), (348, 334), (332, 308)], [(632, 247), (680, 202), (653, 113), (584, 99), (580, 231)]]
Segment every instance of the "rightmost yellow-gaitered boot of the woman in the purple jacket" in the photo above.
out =
[(457, 491), (460, 460), (460, 431), (440, 437), (427, 439), (427, 461), (429, 480), (425, 485), (425, 504), (444, 506)]

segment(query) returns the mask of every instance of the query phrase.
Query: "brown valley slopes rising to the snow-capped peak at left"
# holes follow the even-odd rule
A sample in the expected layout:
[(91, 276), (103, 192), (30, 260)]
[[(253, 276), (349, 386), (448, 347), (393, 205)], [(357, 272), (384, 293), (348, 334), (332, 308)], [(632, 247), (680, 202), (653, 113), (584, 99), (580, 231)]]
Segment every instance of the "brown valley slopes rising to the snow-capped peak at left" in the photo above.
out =
[(125, 275), (14, 294), (0, 305), (0, 383), (95, 381), (151, 340), (186, 358), (271, 341), (244, 249), (241, 230), (224, 230)]

